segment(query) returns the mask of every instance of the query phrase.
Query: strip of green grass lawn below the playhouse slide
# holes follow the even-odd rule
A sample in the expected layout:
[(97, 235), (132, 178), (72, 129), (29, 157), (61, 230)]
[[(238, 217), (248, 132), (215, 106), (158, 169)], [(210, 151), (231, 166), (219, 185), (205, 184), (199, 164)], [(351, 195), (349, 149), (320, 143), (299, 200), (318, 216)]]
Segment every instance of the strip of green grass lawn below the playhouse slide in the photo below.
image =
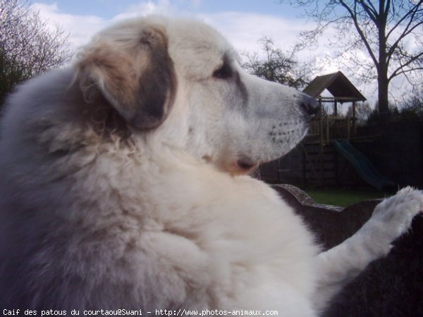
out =
[(304, 189), (319, 204), (347, 207), (359, 201), (384, 198), (383, 192), (359, 189)]

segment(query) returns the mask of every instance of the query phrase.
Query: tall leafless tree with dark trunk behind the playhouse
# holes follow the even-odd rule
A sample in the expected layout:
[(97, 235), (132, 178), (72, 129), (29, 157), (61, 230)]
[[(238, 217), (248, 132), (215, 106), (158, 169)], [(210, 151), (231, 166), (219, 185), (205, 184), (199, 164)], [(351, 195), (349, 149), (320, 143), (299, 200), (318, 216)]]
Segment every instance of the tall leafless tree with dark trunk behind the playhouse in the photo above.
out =
[[(304, 6), (317, 27), (303, 32), (302, 44), (316, 43), (329, 26), (337, 34), (330, 42), (340, 48), (354, 71), (377, 80), (379, 113), (388, 117), (388, 92), (393, 78), (405, 76), (412, 87), (422, 85), (423, 1), (419, 0), (288, 0)], [(283, 2), (283, 0), (281, 1)], [(364, 51), (369, 58), (360, 58)]]

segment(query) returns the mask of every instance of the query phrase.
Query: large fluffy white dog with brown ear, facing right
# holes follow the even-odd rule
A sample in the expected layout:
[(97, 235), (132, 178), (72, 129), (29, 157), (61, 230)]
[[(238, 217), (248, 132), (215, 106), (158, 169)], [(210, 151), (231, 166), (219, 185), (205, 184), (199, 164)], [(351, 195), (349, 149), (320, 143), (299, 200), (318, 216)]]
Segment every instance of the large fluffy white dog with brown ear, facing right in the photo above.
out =
[(100, 32), (73, 67), (8, 99), (2, 308), (317, 315), (388, 253), (423, 195), (403, 189), (319, 253), (290, 206), (243, 175), (298, 144), (316, 111), (245, 73), (202, 23), (150, 17)]

